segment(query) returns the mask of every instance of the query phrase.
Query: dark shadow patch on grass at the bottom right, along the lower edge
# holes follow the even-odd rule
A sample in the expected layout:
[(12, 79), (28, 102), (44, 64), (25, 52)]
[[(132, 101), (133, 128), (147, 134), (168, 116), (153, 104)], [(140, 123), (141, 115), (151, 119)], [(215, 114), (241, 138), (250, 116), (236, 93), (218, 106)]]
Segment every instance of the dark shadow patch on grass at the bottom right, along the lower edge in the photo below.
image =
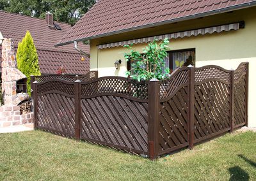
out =
[(232, 168), (228, 169), (230, 173), (230, 181), (235, 181), (235, 180), (249, 180), (249, 175), (246, 171), (244, 171), (242, 168), (239, 166), (234, 166)]

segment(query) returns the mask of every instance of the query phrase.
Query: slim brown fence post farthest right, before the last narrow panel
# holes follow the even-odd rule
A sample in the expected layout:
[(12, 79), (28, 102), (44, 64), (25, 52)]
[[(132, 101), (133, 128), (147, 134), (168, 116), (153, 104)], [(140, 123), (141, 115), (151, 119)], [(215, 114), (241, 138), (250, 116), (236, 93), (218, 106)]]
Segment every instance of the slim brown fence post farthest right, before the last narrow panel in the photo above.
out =
[(234, 83), (234, 69), (230, 71), (230, 133), (234, 131), (234, 98), (235, 98), (235, 83)]

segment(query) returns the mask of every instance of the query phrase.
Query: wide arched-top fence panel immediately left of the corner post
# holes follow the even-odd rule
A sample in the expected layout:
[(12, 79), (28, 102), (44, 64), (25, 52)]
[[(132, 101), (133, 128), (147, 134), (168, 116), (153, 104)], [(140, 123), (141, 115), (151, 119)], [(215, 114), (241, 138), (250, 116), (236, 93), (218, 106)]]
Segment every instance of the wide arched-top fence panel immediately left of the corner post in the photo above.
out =
[(81, 139), (147, 154), (148, 83), (122, 77), (81, 82), (81, 108)]

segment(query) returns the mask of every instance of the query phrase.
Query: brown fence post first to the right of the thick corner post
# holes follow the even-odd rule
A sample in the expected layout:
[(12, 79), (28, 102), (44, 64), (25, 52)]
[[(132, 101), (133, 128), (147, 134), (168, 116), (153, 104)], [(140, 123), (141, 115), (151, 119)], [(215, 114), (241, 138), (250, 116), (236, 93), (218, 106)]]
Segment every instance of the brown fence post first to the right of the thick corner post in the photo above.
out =
[(188, 148), (194, 148), (194, 122), (195, 122), (195, 68), (189, 67), (188, 75)]

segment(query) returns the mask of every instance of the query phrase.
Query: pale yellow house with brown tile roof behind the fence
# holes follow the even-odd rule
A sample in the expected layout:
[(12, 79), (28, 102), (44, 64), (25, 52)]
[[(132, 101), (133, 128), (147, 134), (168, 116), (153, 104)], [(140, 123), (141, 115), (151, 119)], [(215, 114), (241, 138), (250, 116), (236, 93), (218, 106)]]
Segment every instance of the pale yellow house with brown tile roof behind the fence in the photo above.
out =
[[(148, 41), (170, 39), (166, 66), (175, 61), (196, 67), (235, 69), (250, 62), (248, 122), (256, 127), (256, 1), (106, 1), (96, 3), (56, 46), (90, 40), (90, 69), (99, 76), (124, 76), (124, 45), (142, 52)], [(115, 69), (115, 61), (121, 60)]]

